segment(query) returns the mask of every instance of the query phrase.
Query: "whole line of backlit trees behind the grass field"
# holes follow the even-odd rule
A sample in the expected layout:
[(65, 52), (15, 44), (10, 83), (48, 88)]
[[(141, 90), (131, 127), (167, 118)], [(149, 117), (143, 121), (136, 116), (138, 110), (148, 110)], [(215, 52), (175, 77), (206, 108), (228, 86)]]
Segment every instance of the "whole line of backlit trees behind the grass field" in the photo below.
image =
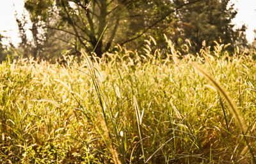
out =
[[(164, 47), (166, 34), (180, 49), (188, 39), (191, 50), (198, 52), (202, 41), (213, 46), (223, 43), (246, 46), (245, 26), (234, 29), (237, 11), (230, 0), (26, 0), (29, 13), (18, 18), (20, 54), (56, 59), (69, 50), (79, 56), (84, 48), (97, 56), (115, 50), (119, 44), (141, 50), (143, 41), (152, 36)], [(31, 21), (32, 41), (25, 26)], [(104, 32), (104, 33), (103, 33)], [(99, 42), (98, 42), (99, 41)], [(1, 49), (1, 52), (3, 51)]]

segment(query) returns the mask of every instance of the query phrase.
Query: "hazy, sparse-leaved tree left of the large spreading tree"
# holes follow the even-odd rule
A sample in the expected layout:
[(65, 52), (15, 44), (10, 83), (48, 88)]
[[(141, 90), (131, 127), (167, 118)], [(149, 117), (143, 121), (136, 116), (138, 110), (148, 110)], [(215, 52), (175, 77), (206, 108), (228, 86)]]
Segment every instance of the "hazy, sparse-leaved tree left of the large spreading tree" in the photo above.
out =
[[(19, 27), (19, 34), (21, 42), (19, 43), (19, 51), (23, 57), (34, 57), (47, 60), (55, 60), (58, 57), (61, 57), (61, 52), (63, 47), (70, 48), (68, 43), (63, 42), (65, 38), (70, 38), (66, 33), (63, 34), (62, 31), (55, 31), (53, 29), (45, 28), (54, 24), (56, 20), (52, 20), (48, 13), (44, 13), (44, 8), (49, 5), (42, 3), (44, 1), (37, 1), (38, 6), (35, 8), (36, 14), (29, 15), (29, 19), (25, 13), (22, 14), (22, 17), (18, 17), (17, 13), (15, 14), (16, 22)], [(43, 5), (43, 6), (42, 6)], [(40, 15), (40, 13), (42, 13)], [(32, 38), (29, 39), (27, 36), (29, 21), (31, 22), (31, 31)], [(12, 46), (11, 46), (12, 47)]]

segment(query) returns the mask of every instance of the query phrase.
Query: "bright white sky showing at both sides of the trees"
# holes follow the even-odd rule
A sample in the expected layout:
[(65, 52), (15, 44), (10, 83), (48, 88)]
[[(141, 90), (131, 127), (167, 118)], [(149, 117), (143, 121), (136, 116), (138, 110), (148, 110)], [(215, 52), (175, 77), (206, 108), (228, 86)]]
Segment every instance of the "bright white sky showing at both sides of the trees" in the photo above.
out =
[[(254, 38), (253, 29), (256, 29), (256, 0), (231, 0), (238, 9), (234, 23), (237, 27), (246, 24), (246, 38), (252, 42)], [(17, 45), (20, 42), (19, 30), (15, 21), (15, 10), (21, 15), (24, 10), (24, 0), (0, 0), (0, 33), (10, 37), (12, 43)], [(31, 34), (30, 34), (31, 36)], [(4, 41), (5, 44), (8, 40)]]

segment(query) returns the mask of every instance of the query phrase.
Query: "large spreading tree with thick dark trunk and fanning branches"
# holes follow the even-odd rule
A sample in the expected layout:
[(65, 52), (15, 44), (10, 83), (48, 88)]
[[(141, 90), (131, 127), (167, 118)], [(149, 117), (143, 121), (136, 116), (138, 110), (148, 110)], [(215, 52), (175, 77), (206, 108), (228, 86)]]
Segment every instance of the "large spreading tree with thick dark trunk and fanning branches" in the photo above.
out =
[[(171, 22), (173, 13), (188, 4), (175, 6), (170, 0), (26, 0), (25, 8), (31, 20), (72, 36), (63, 41), (72, 43), (76, 52), (82, 47), (88, 52), (95, 48), (101, 57), (111, 45), (138, 45), (134, 41), (161, 31), (164, 26), (157, 25), (163, 20)], [(45, 23), (47, 19), (56, 23)]]

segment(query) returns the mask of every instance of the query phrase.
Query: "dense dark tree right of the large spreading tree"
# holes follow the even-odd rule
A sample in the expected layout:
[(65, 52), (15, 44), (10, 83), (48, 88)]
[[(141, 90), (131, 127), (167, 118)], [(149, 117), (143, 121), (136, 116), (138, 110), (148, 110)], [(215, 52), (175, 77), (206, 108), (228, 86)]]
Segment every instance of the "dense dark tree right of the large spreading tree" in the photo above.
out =
[[(174, 3), (180, 5), (185, 1), (175, 0)], [(234, 30), (232, 19), (236, 17), (237, 11), (234, 10), (234, 4), (229, 3), (230, 0), (205, 0), (184, 6), (183, 10), (177, 12), (177, 21), (173, 22), (177, 29), (172, 35), (174, 42), (178, 45), (180, 38), (188, 38), (195, 52), (200, 50), (204, 40), (212, 47), (213, 41), (219, 41), (219, 38), (223, 43), (231, 43), (230, 48), (236, 47), (237, 43), (246, 45), (246, 38), (244, 34), (241, 35), (246, 27)]]

